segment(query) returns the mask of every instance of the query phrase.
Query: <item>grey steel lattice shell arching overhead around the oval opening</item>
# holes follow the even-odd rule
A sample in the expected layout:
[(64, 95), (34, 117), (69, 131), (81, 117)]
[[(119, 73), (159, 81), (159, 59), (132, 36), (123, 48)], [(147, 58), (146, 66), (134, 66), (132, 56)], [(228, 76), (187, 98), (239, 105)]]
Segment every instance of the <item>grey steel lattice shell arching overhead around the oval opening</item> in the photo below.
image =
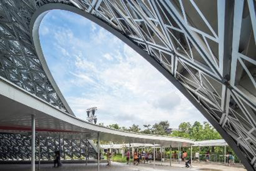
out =
[(0, 76), (67, 111), (30, 35), (48, 3), (91, 14), (143, 49), (256, 170), (255, 1), (0, 0)]

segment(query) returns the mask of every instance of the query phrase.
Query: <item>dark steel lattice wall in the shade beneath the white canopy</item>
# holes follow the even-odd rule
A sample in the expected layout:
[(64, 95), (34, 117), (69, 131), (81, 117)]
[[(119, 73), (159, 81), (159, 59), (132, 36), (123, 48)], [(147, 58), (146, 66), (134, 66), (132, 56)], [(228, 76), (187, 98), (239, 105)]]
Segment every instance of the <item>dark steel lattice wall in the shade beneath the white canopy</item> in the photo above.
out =
[[(88, 140), (73, 140), (53, 137), (40, 137), (40, 160), (54, 160), (55, 151), (61, 147), (61, 158), (64, 160), (80, 160), (86, 157), (96, 159), (97, 152)], [(39, 155), (39, 137), (36, 137), (35, 155)], [(31, 160), (31, 136), (22, 134), (0, 134), (0, 161)]]

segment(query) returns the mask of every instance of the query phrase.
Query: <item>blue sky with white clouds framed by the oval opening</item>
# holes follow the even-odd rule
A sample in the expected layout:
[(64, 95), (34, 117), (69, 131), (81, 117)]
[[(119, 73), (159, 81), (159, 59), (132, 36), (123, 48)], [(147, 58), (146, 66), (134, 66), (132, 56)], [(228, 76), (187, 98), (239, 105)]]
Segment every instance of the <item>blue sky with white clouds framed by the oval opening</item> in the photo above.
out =
[(203, 115), (138, 53), (90, 20), (53, 10), (40, 42), (57, 85), (75, 115), (97, 106), (98, 122), (154, 124), (206, 121)]

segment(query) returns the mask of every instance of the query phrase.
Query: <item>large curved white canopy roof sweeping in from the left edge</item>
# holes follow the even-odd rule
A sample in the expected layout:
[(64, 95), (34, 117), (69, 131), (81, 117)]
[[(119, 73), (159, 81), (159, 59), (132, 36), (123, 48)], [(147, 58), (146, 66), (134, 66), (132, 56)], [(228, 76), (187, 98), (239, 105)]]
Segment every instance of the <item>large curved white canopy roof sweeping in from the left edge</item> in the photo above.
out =
[(40, 135), (74, 139), (97, 139), (120, 143), (150, 143), (165, 147), (190, 146), (193, 140), (179, 137), (136, 134), (90, 124), (42, 101), (11, 82), (0, 77), (0, 131), (30, 132), (31, 114), (35, 115), (36, 132)]

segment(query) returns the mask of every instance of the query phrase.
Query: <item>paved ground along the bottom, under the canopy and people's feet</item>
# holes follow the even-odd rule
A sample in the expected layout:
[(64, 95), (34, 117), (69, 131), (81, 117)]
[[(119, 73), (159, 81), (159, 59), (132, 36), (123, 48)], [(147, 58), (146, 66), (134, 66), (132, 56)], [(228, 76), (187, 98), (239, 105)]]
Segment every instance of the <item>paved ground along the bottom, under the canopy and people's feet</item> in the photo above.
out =
[[(30, 171), (30, 166), (28, 164), (2, 164), (0, 165), (1, 171)], [(63, 171), (97, 171), (97, 164), (63, 164), (60, 168), (53, 168), (53, 164), (41, 164), (40, 171), (48, 171), (48, 170), (63, 170)], [(36, 169), (38, 169), (38, 165), (36, 165)], [(153, 164), (139, 164), (137, 165), (127, 165), (118, 162), (112, 162), (112, 166), (106, 166), (106, 164), (100, 165), (100, 170), (108, 170), (108, 171), (151, 171), (151, 170), (159, 170), (159, 171), (167, 171), (167, 170), (174, 170), (174, 171), (183, 171), (183, 170), (208, 170), (208, 171), (245, 171), (245, 169), (241, 167), (229, 167), (224, 165), (213, 165), (213, 164), (195, 164), (193, 169), (184, 168), (184, 164), (172, 164), (167, 165), (167, 163), (163, 163), (160, 165), (160, 162), (156, 162), (155, 169), (153, 168)]]

